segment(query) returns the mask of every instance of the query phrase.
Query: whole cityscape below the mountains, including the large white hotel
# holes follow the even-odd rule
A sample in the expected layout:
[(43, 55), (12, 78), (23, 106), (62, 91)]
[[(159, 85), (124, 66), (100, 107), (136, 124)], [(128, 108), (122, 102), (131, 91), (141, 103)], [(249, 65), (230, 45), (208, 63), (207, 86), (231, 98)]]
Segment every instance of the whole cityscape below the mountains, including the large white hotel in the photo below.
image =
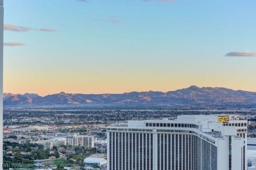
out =
[[(219, 159), (225, 158), (230, 161), (223, 167), (252, 169), (255, 112), (223, 106), (9, 107), (4, 109), (3, 169), (220, 169)], [(202, 163), (201, 157), (211, 162)]]

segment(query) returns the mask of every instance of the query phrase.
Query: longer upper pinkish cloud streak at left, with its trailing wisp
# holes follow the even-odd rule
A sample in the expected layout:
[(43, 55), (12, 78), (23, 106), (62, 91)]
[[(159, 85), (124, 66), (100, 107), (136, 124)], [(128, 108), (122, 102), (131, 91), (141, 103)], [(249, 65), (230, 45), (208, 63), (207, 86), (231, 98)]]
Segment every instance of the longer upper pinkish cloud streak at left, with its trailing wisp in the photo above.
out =
[(12, 25), (12, 24), (5, 24), (3, 25), (3, 28), (7, 31), (14, 31), (14, 32), (26, 32), (26, 31), (47, 31), (47, 32), (53, 32), (57, 31), (55, 29), (51, 28), (40, 28), (40, 29), (34, 29), (31, 27), (24, 27), (20, 25)]

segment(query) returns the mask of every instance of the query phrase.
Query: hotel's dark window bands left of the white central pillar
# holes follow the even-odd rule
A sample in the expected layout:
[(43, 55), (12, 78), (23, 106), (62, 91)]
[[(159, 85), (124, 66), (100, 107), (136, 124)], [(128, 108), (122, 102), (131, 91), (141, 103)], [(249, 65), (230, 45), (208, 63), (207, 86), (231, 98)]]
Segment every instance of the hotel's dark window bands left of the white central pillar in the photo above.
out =
[[(109, 133), (109, 169), (153, 169), (153, 134)], [(144, 156), (144, 159), (142, 159)]]

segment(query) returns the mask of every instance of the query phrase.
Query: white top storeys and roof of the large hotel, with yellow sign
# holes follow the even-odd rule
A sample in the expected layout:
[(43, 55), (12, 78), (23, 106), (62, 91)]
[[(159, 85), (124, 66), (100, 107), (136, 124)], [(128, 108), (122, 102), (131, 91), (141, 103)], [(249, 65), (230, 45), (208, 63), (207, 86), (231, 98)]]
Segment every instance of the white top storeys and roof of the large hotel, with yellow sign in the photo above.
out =
[[(112, 131), (157, 131), (168, 133), (196, 133), (208, 139), (223, 138), (224, 135), (237, 135), (236, 126), (226, 126), (228, 122), (243, 123), (246, 128), (246, 120), (240, 120), (239, 115), (181, 115), (175, 120), (163, 118), (161, 120), (130, 120), (128, 126), (110, 126)], [(232, 123), (236, 124), (236, 123)], [(236, 137), (240, 138), (240, 137)]]

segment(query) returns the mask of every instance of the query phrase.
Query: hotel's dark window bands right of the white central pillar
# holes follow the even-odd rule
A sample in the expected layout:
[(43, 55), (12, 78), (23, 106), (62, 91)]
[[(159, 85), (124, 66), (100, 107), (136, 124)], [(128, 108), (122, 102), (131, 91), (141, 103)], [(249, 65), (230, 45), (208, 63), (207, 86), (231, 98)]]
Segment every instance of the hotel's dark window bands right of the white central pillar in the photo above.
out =
[(194, 135), (158, 134), (157, 162), (158, 169), (216, 170), (217, 147)]

